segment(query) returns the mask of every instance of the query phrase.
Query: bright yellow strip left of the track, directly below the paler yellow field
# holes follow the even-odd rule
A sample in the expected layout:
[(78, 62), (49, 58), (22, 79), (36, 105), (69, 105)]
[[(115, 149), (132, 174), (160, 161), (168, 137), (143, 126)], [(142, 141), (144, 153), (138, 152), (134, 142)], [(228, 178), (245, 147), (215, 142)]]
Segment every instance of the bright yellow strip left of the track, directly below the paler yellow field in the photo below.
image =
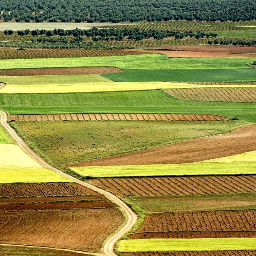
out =
[(73, 182), (45, 168), (0, 168), (0, 183)]

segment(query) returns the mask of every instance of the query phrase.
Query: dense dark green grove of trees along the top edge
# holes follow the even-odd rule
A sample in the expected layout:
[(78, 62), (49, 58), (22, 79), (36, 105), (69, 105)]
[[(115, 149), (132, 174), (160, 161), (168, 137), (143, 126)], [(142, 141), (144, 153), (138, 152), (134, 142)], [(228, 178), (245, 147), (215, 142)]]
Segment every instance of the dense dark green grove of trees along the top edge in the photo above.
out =
[(4, 21), (238, 21), (256, 18), (256, 0), (1, 0)]

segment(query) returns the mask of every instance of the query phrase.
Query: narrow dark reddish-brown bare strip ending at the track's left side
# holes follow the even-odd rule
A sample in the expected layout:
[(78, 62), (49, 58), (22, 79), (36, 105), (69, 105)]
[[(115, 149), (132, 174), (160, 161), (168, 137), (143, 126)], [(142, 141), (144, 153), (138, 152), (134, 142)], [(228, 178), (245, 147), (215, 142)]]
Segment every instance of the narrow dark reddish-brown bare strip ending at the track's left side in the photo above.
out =
[(25, 211), (25, 210), (67, 210), (88, 208), (114, 208), (111, 201), (93, 202), (50, 202), (36, 204), (1, 204), (0, 211)]

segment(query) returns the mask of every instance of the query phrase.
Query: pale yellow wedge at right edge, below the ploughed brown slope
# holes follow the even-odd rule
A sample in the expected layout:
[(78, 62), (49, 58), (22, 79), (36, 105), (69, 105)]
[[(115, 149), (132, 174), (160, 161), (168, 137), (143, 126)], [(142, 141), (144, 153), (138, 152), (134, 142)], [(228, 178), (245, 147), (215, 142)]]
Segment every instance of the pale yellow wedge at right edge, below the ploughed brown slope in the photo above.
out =
[(228, 157), (220, 157), (202, 162), (222, 163), (222, 162), (256, 162), (256, 151), (250, 151), (242, 154), (231, 155)]

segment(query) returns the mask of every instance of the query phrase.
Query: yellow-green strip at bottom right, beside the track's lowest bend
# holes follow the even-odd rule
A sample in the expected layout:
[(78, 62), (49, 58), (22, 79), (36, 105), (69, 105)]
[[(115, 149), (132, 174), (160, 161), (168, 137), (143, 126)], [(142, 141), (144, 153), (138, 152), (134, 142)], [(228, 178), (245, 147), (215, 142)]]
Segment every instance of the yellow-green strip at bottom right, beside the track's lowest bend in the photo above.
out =
[(118, 252), (256, 250), (256, 238), (129, 239), (121, 240)]

